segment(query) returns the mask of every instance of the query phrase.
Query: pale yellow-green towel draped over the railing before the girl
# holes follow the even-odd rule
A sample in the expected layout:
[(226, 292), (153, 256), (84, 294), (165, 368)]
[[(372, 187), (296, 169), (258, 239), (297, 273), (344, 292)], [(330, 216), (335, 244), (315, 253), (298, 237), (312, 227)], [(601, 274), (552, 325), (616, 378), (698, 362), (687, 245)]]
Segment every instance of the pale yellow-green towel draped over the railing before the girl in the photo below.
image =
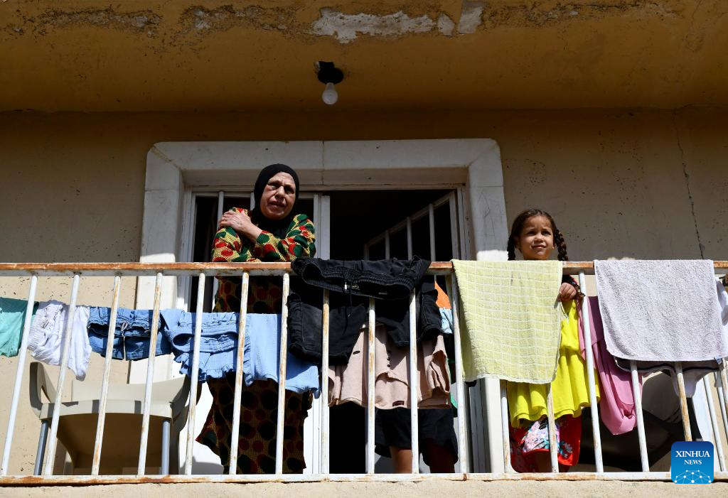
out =
[(453, 260), (465, 326), (467, 381), (491, 377), (545, 384), (556, 374), (560, 261)]

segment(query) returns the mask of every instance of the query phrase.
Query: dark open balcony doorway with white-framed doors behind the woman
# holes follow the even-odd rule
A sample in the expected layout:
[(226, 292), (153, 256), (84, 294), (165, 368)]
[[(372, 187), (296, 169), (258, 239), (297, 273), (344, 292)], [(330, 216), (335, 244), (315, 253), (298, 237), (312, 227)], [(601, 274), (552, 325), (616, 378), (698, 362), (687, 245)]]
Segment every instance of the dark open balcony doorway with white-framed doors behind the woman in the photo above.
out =
[[(254, 201), (246, 190), (195, 190), (191, 196), (192, 226), (188, 231), (191, 240), (187, 244), (190, 260), (207, 262), (210, 261), (210, 248), (221, 214), (233, 206), (253, 207)], [(302, 192), (296, 210), (309, 214), (316, 225), (317, 257), (336, 260), (396, 257), (407, 260), (419, 256), (426, 260), (448, 261), (460, 257), (463, 246), (459, 196), (462, 196), (462, 191), (458, 189)], [(183, 297), (183, 308), (193, 311), (197, 302), (197, 278), (182, 280), (186, 280), (181, 282), (179, 294)], [(443, 289), (446, 287), (444, 279), (439, 284)], [(207, 279), (205, 311), (212, 310), (216, 286), (216, 279)], [(198, 413), (206, 414), (211, 401), (207, 390), (203, 390)], [(320, 472), (322, 408), (322, 400), (314, 399), (304, 425), (306, 473)], [(204, 419), (204, 416), (196, 419), (196, 425), (199, 425), (196, 430), (202, 429)], [(360, 423), (352, 424), (352, 419), (360, 419)], [(337, 424), (337, 421), (342, 423)], [(346, 463), (339, 472), (364, 472), (365, 435), (363, 409), (347, 407), (339, 415), (332, 413), (329, 441), (345, 441), (343, 446), (331, 446), (331, 462)], [(210, 473), (215, 468), (217, 457), (205, 446), (195, 444), (194, 466)], [(351, 451), (355, 447), (361, 451)], [(380, 459), (377, 464), (380, 472), (387, 472), (390, 468), (388, 459)], [(336, 472), (333, 465), (331, 470)]]

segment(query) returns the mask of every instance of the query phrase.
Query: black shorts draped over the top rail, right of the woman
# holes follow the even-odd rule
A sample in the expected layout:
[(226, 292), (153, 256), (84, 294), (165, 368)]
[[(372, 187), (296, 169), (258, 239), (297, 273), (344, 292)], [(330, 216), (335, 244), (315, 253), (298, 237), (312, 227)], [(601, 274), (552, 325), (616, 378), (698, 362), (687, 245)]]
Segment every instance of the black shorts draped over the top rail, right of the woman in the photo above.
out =
[(301, 277), (292, 281), (288, 297), (290, 350), (320, 363), (323, 293), (329, 294), (329, 362), (347, 364), (363, 324), (368, 321), (369, 297), (375, 299), (376, 319), (397, 348), (409, 345), (410, 294), (416, 291), (417, 341), (442, 332), (437, 292), (423, 281), (430, 262), (413, 260), (340, 261), (298, 258), (291, 268)]

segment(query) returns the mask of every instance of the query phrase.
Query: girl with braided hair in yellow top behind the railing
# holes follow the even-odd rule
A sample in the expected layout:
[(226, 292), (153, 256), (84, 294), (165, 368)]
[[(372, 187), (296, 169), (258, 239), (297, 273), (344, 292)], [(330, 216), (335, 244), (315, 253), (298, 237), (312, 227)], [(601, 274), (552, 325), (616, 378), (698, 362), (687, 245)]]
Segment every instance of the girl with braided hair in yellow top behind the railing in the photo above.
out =
[[(558, 252), (558, 260), (569, 260), (563, 234), (556, 228), (553, 217), (541, 209), (528, 209), (513, 221), (508, 238), (509, 260), (515, 260), (516, 249), (524, 260), (547, 260), (554, 251)], [(579, 461), (581, 412), (589, 405), (587, 372), (579, 352), (577, 328), (577, 298), (582, 296), (577, 283), (564, 276), (557, 299), (563, 305), (566, 318), (561, 321), (558, 366), (551, 385), (558, 462), (562, 472)], [(507, 396), (513, 469), (517, 472), (550, 472), (547, 386), (507, 382)]]

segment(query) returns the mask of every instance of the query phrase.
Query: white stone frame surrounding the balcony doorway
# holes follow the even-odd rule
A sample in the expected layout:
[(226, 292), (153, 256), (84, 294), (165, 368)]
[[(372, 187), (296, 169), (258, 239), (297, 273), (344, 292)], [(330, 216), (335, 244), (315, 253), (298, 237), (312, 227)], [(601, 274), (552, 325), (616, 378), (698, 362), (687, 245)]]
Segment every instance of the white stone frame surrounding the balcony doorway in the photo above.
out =
[[(301, 142), (159, 142), (147, 153), (141, 262), (186, 259), (183, 227), (189, 225), (191, 187), (253, 185), (267, 164), (296, 169), (301, 190), (459, 188), (469, 238), (463, 254), (505, 259), (507, 220), (498, 144), (491, 139), (360, 140)], [(464, 186), (464, 188), (462, 188)], [(223, 190), (226, 190), (223, 188)], [(162, 284), (162, 308), (175, 308), (174, 277)], [(136, 307), (154, 300), (154, 277), (140, 277)], [(160, 362), (161, 363), (161, 362)], [(155, 369), (173, 375), (172, 362)], [(146, 362), (133, 364), (130, 381), (143, 381)], [(488, 406), (499, 407), (498, 382), (485, 382)], [(486, 417), (491, 471), (502, 472), (500, 414)]]

